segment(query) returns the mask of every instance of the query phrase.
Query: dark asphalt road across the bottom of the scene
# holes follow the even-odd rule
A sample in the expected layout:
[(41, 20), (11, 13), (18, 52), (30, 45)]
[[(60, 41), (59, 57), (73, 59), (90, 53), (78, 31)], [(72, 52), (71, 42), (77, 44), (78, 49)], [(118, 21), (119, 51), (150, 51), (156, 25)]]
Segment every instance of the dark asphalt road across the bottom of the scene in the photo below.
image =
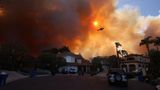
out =
[(154, 87), (135, 80), (129, 80), (127, 88), (116, 87), (109, 86), (102, 77), (57, 75), (17, 80), (1, 90), (154, 90)]

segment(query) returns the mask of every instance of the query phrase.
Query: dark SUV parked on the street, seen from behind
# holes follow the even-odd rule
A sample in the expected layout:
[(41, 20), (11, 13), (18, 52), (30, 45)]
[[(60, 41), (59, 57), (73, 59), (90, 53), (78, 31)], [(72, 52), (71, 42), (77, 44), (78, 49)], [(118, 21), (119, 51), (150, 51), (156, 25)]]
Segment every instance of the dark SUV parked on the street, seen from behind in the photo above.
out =
[(123, 85), (125, 87), (128, 86), (127, 74), (119, 68), (110, 69), (107, 77), (108, 83), (110, 85)]

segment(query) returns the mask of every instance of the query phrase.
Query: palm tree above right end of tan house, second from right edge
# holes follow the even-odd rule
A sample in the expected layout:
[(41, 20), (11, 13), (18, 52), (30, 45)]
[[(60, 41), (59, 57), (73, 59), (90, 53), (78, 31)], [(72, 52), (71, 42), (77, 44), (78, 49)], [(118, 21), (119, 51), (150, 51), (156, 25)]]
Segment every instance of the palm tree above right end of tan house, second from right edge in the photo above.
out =
[(146, 45), (146, 48), (147, 48), (147, 52), (148, 52), (148, 54), (149, 54), (149, 44), (152, 44), (153, 43), (153, 40), (151, 40), (150, 38), (152, 38), (151, 36), (148, 36), (148, 37), (146, 37), (146, 38), (144, 38), (144, 39), (142, 39), (141, 40), (141, 42), (140, 42), (140, 46), (141, 45)]

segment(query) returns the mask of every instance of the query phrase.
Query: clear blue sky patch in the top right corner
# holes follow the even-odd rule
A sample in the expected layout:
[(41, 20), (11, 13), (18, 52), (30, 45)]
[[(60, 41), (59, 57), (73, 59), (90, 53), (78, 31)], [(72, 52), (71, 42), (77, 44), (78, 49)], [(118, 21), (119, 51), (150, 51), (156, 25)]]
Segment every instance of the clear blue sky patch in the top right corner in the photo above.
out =
[(144, 16), (157, 16), (160, 13), (160, 0), (119, 0), (117, 8), (130, 5), (140, 10)]

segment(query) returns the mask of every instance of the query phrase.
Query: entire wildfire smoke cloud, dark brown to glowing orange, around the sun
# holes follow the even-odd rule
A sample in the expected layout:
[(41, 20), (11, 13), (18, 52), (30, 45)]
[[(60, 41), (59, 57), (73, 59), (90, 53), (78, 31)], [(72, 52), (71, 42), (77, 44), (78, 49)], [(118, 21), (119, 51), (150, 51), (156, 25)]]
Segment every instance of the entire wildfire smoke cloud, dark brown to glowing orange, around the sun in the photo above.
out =
[[(140, 40), (160, 35), (160, 17), (138, 8), (117, 8), (116, 0), (2, 0), (0, 42), (22, 43), (31, 53), (68, 46), (85, 58), (116, 54), (118, 41), (129, 53), (144, 53)], [(99, 28), (103, 30), (98, 30)]]

